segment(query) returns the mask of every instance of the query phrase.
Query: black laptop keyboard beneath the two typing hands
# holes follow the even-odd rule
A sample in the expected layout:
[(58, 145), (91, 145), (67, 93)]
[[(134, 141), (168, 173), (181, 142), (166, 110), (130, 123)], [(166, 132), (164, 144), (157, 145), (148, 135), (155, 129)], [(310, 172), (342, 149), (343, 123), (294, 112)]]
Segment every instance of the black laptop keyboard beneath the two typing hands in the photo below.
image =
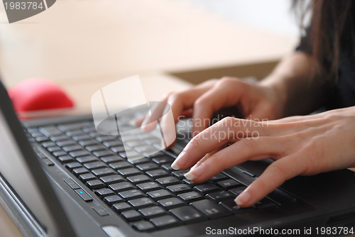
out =
[[(159, 139), (142, 131), (132, 136), (128, 142), (130, 149), (125, 150), (119, 136), (97, 133), (92, 121), (28, 128), (28, 137), (52, 153), (138, 231), (278, 206), (265, 198), (251, 208), (240, 209), (234, 199), (246, 186), (223, 172), (204, 183), (185, 179), (188, 170), (173, 170), (171, 164), (178, 155), (177, 147), (181, 149), (188, 142), (186, 139), (179, 140), (175, 152), (163, 150), (138, 160), (127, 160), (127, 153), (144, 155), (159, 145)], [(86, 202), (92, 200), (80, 187), (75, 192)]]

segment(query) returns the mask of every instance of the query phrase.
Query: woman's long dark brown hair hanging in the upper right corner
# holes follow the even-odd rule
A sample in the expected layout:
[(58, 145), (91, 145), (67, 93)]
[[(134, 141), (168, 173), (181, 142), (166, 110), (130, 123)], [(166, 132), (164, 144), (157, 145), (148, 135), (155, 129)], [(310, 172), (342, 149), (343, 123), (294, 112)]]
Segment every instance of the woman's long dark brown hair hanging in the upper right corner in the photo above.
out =
[[(344, 40), (349, 52), (354, 47), (353, 0), (293, 0), (293, 9), (300, 19), (300, 27), (307, 32), (301, 45), (312, 55), (316, 63), (316, 73), (337, 79), (339, 51)], [(305, 26), (305, 18), (312, 13), (310, 26)], [(350, 51), (351, 50), (351, 51)]]

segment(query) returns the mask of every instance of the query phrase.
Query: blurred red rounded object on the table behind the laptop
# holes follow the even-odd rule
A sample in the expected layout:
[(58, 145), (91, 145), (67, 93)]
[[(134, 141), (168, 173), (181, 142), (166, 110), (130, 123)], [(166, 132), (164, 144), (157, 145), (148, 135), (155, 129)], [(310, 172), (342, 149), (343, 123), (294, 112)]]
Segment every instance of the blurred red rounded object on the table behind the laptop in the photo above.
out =
[(45, 79), (26, 79), (9, 89), (9, 95), (17, 112), (74, 106), (72, 99), (58, 84)]

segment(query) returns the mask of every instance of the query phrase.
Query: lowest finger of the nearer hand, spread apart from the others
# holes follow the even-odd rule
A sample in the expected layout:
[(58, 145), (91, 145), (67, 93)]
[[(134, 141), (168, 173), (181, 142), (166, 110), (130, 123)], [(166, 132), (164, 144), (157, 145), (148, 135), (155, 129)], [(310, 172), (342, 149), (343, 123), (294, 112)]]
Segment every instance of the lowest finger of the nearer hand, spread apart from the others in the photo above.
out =
[(298, 155), (281, 158), (269, 165), (260, 177), (236, 197), (236, 204), (241, 207), (251, 206), (273, 192), (283, 182), (302, 174), (305, 170), (306, 167), (300, 162)]

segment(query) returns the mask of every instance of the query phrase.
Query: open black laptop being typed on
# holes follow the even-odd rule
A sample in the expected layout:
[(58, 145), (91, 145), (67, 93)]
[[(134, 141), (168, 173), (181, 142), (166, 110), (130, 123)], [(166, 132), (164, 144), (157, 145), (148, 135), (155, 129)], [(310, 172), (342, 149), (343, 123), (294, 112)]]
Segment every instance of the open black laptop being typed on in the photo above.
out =
[(351, 170), (295, 177), (241, 209), (234, 198), (272, 160), (197, 184), (170, 167), (188, 142), (183, 129), (172, 149), (127, 160), (156, 139), (133, 134), (125, 150), (120, 136), (97, 133), (92, 115), (20, 122), (1, 83), (0, 109), (0, 201), (24, 236), (354, 233)]

